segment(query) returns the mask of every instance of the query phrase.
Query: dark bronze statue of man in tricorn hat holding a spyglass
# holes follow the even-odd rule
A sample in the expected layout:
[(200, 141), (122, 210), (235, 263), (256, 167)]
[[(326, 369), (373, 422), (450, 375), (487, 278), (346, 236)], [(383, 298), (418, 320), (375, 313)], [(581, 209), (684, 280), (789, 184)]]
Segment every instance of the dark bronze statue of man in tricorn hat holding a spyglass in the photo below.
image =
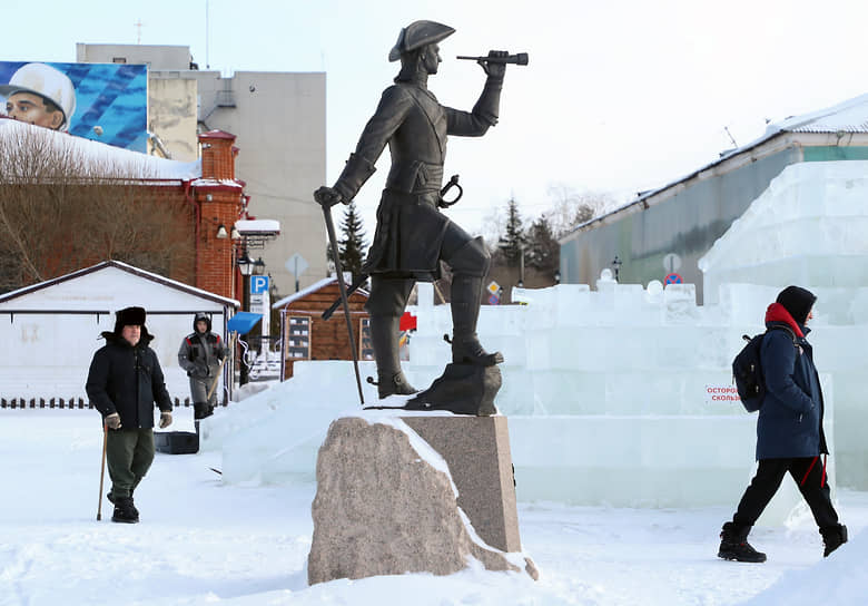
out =
[[(446, 136), (479, 137), (497, 123), (505, 65), (480, 61), (485, 86), (472, 111), (445, 107), (428, 90), (428, 76), (441, 63), (437, 42), (455, 30), (435, 21), (414, 21), (401, 30), (389, 61), (401, 60), (395, 84), (383, 92), (355, 153), (333, 187), (314, 198), (324, 207), (349, 204), (374, 173), (388, 145), (392, 167), (377, 208), (377, 226), (363, 273), (371, 275), (371, 340), (377, 365), (379, 398), (411, 394), (415, 389), (401, 370), (401, 315), (415, 281), (440, 277), (440, 262), (452, 268), (451, 306), (454, 363), (491, 366), (503, 361), (487, 353), (476, 336), (476, 321), (491, 256), (474, 238), (440, 212)], [(489, 57), (505, 56), (491, 51)]]

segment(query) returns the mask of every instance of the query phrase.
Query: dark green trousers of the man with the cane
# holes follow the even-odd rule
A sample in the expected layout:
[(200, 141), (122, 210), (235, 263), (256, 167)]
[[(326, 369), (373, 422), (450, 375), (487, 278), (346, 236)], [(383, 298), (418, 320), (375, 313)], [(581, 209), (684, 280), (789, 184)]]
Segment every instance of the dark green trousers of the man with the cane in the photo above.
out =
[(111, 496), (129, 497), (154, 462), (154, 430), (109, 429), (106, 460)]

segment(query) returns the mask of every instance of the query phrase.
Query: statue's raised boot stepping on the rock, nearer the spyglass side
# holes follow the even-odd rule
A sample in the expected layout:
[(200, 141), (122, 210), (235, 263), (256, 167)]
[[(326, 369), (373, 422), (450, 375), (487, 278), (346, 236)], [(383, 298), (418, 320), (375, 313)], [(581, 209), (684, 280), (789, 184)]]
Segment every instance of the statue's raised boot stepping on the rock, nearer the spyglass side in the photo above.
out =
[(482, 290), (482, 277), (452, 276), (452, 362), (455, 364), (493, 366), (503, 362), (501, 352), (486, 352), (476, 336)]

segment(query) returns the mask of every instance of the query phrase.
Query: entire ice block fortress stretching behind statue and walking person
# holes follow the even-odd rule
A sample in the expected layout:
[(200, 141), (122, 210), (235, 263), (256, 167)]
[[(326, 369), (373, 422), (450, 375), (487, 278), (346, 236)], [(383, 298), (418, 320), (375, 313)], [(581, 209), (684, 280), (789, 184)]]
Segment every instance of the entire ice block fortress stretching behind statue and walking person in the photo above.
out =
[[(510, 418), (520, 500), (734, 506), (752, 472), (756, 416), (728, 398), (730, 363), (788, 284), (819, 296), (810, 341), (830, 477), (837, 467), (841, 485), (868, 488), (866, 175), (862, 162), (788, 167), (700, 262), (706, 305), (691, 284), (604, 275), (595, 290), (516, 289), (513, 300), (525, 304), (483, 306), (482, 341), (506, 360), (496, 404)], [(424, 388), (450, 361), (451, 315), (425, 284), (412, 311), (420, 328), (407, 374)], [(374, 374), (362, 366), (363, 377)], [(374, 389), (364, 389), (373, 402)], [(351, 363), (297, 363), (292, 381), (204, 423), (204, 446), (223, 448), (227, 481), (310, 479), (328, 422), (355, 402)], [(798, 502), (789, 483), (767, 520)]]

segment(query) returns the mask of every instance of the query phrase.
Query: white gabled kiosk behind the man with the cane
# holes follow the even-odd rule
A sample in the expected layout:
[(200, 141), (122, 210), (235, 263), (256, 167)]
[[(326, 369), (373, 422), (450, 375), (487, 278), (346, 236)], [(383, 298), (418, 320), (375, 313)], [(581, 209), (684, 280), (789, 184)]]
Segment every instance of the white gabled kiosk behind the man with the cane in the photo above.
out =
[[(178, 365), (181, 339), (193, 332), (197, 312), (211, 316), (211, 330), (226, 339), (238, 302), (118, 261), (0, 295), (0, 408), (81, 408), (85, 381), (99, 338), (115, 329), (115, 312), (145, 307), (150, 343), (176, 405), (189, 404), (189, 382)], [(229, 364), (218, 388), (226, 401)]]

